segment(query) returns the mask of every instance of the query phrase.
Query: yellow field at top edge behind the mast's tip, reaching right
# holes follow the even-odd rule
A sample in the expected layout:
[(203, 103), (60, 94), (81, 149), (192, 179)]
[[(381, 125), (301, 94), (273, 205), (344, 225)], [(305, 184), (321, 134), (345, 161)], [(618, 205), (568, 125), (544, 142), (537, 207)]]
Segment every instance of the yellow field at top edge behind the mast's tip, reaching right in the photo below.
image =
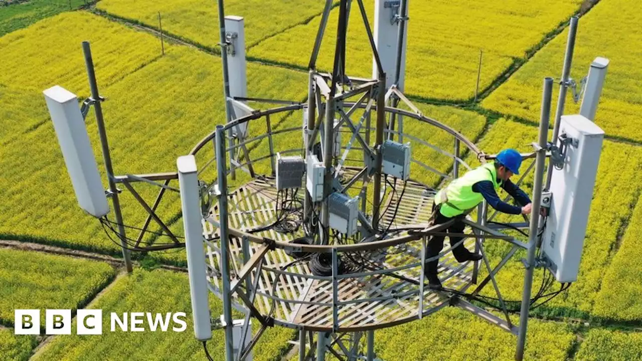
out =
[[(424, 98), (467, 100), (474, 96), (480, 49), (480, 90), (510, 64), (525, 57), (546, 33), (568, 19), (580, 0), (572, 1), (410, 1), (406, 92)], [(374, 3), (365, 1), (370, 25)], [(330, 69), (336, 39), (338, 8), (328, 21), (318, 67)], [(255, 58), (307, 67), (320, 16), (250, 49)], [(356, 3), (347, 35), (349, 74), (372, 75), (372, 55)]]

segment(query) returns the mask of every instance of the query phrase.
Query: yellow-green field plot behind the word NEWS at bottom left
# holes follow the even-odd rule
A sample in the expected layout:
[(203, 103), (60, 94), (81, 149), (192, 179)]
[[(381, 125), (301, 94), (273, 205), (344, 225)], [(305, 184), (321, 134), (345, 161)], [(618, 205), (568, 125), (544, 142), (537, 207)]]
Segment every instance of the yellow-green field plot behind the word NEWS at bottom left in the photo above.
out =
[[(212, 317), (222, 312), (222, 304), (214, 295), (209, 297)], [(203, 360), (205, 353), (201, 342), (193, 334), (189, 282), (187, 274), (167, 270), (134, 270), (133, 274), (119, 277), (110, 288), (91, 303), (89, 308), (103, 310), (102, 335), (59, 335), (53, 337), (33, 360)], [(172, 331), (170, 323), (166, 332), (124, 332), (119, 328), (110, 331), (111, 312), (185, 312), (187, 328), (182, 332)], [(234, 317), (243, 317), (234, 312)], [(180, 326), (180, 325), (176, 325)], [(256, 320), (252, 327), (259, 328)], [(76, 327), (74, 320), (72, 329)], [(254, 360), (279, 360), (288, 348), (292, 330), (268, 328), (254, 349)], [(223, 360), (225, 355), (223, 330), (216, 330), (207, 342), (214, 360)]]

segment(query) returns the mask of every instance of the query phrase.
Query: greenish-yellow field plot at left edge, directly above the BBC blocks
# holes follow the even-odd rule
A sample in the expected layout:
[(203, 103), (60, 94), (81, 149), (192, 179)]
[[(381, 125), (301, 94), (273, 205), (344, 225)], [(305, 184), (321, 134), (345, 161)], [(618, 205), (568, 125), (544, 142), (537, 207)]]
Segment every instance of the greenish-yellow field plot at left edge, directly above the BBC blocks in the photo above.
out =
[(108, 263), (41, 252), (0, 249), (0, 322), (13, 326), (13, 310), (82, 308), (110, 283)]

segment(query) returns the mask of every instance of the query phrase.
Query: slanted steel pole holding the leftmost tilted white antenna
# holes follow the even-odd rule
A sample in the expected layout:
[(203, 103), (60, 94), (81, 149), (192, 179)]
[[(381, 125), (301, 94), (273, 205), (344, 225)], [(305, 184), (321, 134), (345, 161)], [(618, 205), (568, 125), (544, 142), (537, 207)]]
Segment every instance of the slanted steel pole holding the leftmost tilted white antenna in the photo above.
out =
[(114, 169), (112, 168), (112, 157), (109, 154), (109, 145), (107, 143), (107, 130), (105, 130), (105, 121), (103, 119), (103, 108), (100, 103), (100, 94), (98, 93), (98, 84), (96, 83), (96, 72), (94, 71), (94, 60), (91, 58), (91, 48), (88, 41), (82, 42), (82, 50), (85, 55), (85, 66), (87, 67), (87, 77), (89, 78), (89, 88), (91, 89), (91, 98), (94, 100), (94, 110), (96, 111), (96, 123), (98, 124), (98, 135), (100, 136), (100, 145), (103, 150), (103, 160), (105, 161), (105, 170), (107, 171), (107, 182), (109, 191), (112, 195), (114, 204), (114, 215), (118, 224), (118, 235), (123, 248), (123, 260), (127, 272), (132, 272), (132, 259), (130, 258), (127, 243), (125, 242), (125, 227), (123, 226), (123, 214), (121, 213), (120, 201), (118, 199), (118, 189), (114, 182)]

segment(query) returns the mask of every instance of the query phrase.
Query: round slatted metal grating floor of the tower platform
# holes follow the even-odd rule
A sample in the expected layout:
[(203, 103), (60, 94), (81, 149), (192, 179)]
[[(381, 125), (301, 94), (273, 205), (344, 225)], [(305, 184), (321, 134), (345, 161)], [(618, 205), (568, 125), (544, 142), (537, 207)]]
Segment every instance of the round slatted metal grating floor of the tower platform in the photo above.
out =
[[(351, 170), (345, 171), (345, 179)], [(403, 182), (397, 181), (401, 189)], [(388, 227), (395, 212), (399, 194), (390, 192), (386, 199), (386, 212), (383, 227)], [(422, 184), (409, 181), (403, 202), (397, 209), (394, 224), (428, 224), (434, 191)], [(230, 227), (241, 231), (257, 229), (272, 224), (275, 220), (275, 200), (277, 190), (274, 179), (263, 177), (254, 179), (239, 187), (229, 195)], [(390, 207), (387, 207), (387, 204)], [(218, 220), (218, 206), (214, 206), (213, 218)], [(256, 233), (279, 242), (292, 238), (274, 229)], [(209, 222), (204, 222), (206, 239), (218, 237), (218, 230)], [(234, 282), (245, 263), (242, 240), (230, 240), (230, 278)], [(208, 276), (214, 292), (220, 293), (220, 252), (216, 242), (207, 242), (209, 263)], [(465, 241), (472, 249), (474, 239)], [(250, 244), (250, 254), (254, 255), (263, 245)], [(338, 280), (338, 329), (358, 331), (370, 328), (393, 326), (428, 315), (447, 305), (449, 297), (424, 287), (422, 304), (419, 300), (419, 277), (421, 272), (422, 241), (403, 243), (394, 248), (378, 250), (376, 264), (381, 269), (391, 270), (416, 263), (415, 267), (385, 272), (383, 274), (354, 274)], [(446, 248), (444, 248), (446, 249)], [(444, 286), (464, 292), (472, 283), (472, 263), (458, 263), (450, 252), (440, 259), (440, 277)], [(284, 273), (285, 271), (285, 273)], [(365, 272), (364, 272), (365, 273)], [(284, 252), (274, 249), (266, 252), (261, 273), (256, 279), (256, 271), (251, 272), (250, 281), (257, 284), (254, 306), (264, 316), (272, 316), (275, 324), (292, 328), (304, 327), (307, 330), (333, 330), (333, 282), (323, 277), (312, 276), (308, 261), (299, 261)], [(327, 278), (327, 277), (326, 277)], [(401, 278), (401, 279), (400, 279)], [(412, 281), (411, 281), (412, 280)], [(244, 292), (239, 290), (238, 292)], [(235, 295), (236, 296), (236, 295)], [(239, 304), (242, 304), (240, 301)], [(421, 306), (421, 310), (420, 310)], [(421, 313), (421, 316), (420, 316)]]

